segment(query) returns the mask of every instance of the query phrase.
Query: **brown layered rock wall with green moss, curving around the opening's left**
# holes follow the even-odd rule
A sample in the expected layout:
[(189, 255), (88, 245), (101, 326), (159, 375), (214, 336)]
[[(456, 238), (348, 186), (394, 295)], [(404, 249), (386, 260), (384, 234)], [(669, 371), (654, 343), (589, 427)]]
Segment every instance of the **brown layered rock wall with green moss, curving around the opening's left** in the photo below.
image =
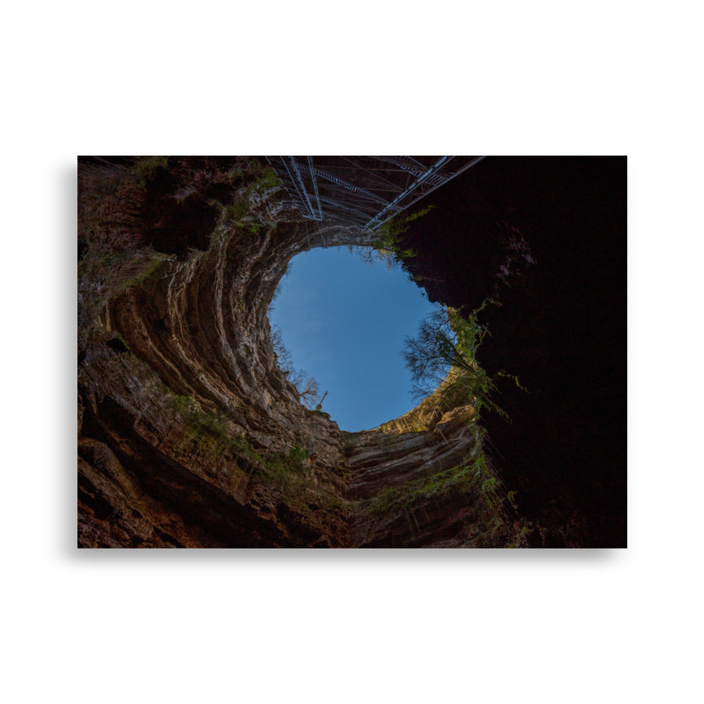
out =
[(470, 411), (350, 434), (277, 366), (291, 258), (375, 234), (304, 222), (235, 160), (150, 166), (80, 165), (79, 546), (502, 545), (490, 468), (460, 467)]

